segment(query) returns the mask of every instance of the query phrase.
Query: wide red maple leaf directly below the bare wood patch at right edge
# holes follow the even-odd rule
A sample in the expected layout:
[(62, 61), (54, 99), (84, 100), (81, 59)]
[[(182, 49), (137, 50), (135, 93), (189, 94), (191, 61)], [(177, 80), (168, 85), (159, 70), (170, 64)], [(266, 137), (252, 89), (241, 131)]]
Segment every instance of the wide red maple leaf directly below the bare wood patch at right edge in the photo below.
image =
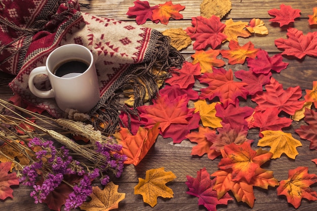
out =
[(302, 97), (302, 91), (299, 86), (289, 87), (287, 90), (283, 89), (277, 80), (271, 77), (271, 83), (265, 85), (266, 92), (257, 93), (252, 96), (252, 101), (256, 102), (258, 106), (255, 110), (264, 111), (267, 108), (277, 108), (279, 112), (285, 111), (290, 115), (294, 115), (295, 111), (301, 109), (304, 101), (299, 101)]

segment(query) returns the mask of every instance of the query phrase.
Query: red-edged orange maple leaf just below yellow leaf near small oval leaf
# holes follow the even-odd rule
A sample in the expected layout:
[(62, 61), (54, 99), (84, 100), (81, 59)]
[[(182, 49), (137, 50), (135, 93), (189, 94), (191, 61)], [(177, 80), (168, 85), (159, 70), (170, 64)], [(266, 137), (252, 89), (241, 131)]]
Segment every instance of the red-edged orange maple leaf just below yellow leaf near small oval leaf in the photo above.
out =
[(244, 46), (233, 39), (229, 42), (229, 50), (221, 50), (222, 57), (228, 59), (229, 64), (243, 64), (246, 58), (254, 59), (260, 49), (255, 49), (254, 45), (249, 41)]

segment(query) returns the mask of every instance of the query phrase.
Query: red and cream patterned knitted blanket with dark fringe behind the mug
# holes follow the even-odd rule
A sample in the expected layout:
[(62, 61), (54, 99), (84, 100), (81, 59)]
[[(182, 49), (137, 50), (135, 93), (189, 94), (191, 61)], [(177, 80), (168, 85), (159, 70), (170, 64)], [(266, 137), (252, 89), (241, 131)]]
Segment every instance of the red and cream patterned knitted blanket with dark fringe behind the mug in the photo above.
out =
[[(30, 71), (44, 66), (48, 55), (61, 45), (80, 44), (90, 49), (101, 98), (89, 115), (95, 128), (107, 133), (117, 128), (120, 111), (133, 112), (120, 102), (123, 90), (132, 90), (136, 108), (146, 94), (155, 96), (159, 89), (155, 81), (169, 74), (154, 74), (152, 68), (179, 68), (184, 60), (160, 32), (82, 13), (75, 0), (1, 1), (0, 37), (0, 70), (16, 75), (10, 88), (53, 117), (64, 117), (65, 113), (54, 99), (38, 98), (30, 92)], [(36, 77), (34, 83), (38, 89), (50, 89), (46, 75)]]

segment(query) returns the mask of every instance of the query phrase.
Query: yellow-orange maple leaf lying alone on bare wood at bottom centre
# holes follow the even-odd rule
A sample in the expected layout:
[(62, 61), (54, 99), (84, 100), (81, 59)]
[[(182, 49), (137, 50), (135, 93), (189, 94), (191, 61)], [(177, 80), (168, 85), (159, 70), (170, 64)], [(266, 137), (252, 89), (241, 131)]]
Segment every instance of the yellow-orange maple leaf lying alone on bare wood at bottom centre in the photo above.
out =
[(166, 183), (175, 178), (172, 172), (165, 172), (164, 167), (147, 170), (145, 179), (139, 178), (139, 184), (134, 187), (134, 194), (142, 195), (143, 201), (153, 207), (159, 196), (173, 198), (173, 190)]

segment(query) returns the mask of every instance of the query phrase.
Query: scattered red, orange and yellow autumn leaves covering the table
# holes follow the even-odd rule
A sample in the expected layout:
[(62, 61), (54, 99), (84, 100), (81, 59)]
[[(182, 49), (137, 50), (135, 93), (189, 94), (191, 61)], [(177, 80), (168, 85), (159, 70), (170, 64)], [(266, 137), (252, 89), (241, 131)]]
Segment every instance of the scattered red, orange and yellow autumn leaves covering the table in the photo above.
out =
[[(138, 115), (121, 113), (123, 124), (113, 137), (122, 145), (121, 154), (127, 156), (125, 164), (138, 165), (154, 147), (159, 135), (171, 138), (174, 144), (187, 139), (196, 143), (191, 155), (207, 155), (211, 162), (221, 158), (218, 171), (211, 173), (204, 167), (197, 170), (195, 177), (187, 175), (187, 194), (198, 197), (198, 204), (208, 210), (216, 210), (218, 204), (227, 204), (233, 200), (231, 196), (237, 202), (253, 207), (254, 187), (276, 188), (276, 194), (285, 195), (295, 208), (300, 206), (302, 198), (317, 200), (317, 193), (310, 188), (317, 182), (317, 176), (309, 174), (307, 167), (289, 170), (288, 179), (282, 181), (262, 167), (270, 159), (281, 156), (296, 159), (296, 148), (302, 144), (283, 131), (293, 121), (304, 119), (307, 125), (300, 126), (295, 132), (310, 142), (309, 149), (317, 150), (317, 111), (314, 109), (317, 81), (313, 82), (312, 90), (306, 90), (302, 96), (299, 86), (284, 89), (272, 76), (272, 71), (280, 73), (287, 69), (283, 55), (294, 59), (317, 57), (317, 32), (304, 35), (289, 25), (301, 16), (298, 9), (282, 4), (280, 9), (269, 10), (270, 22), (278, 23), (280, 27), (289, 26), (287, 38), (274, 41), (282, 53), (270, 57), (251, 41), (241, 45), (238, 40), (238, 37), (255, 34), (267, 35), (269, 31), (262, 20), (222, 21), (231, 10), (229, 0), (204, 0), (200, 9), (201, 16), (192, 17), (187, 28), (163, 31), (171, 37), (171, 45), (177, 50), (192, 45), (195, 53), (190, 61), (185, 61), (181, 69), (167, 70), (172, 76), (164, 83), (157, 81), (162, 89), (155, 99), (137, 108)], [(150, 20), (167, 25), (170, 18), (182, 19), (182, 10), (185, 6), (174, 5), (172, 1), (150, 5), (147, 1), (137, 0), (127, 15), (135, 18), (137, 24)], [(309, 25), (317, 24), (317, 8), (313, 8), (312, 13)], [(226, 64), (247, 64), (248, 70), (233, 72), (226, 68)], [(153, 74), (159, 74), (159, 71), (153, 69)], [(133, 104), (133, 96), (129, 97), (127, 105)], [(243, 106), (250, 99), (255, 106)], [(256, 150), (253, 149), (256, 146), (251, 147), (254, 140), (247, 138), (250, 129), (259, 130)], [(312, 161), (317, 163), (317, 159)], [(12, 168), (10, 162), (0, 163), (0, 184), (4, 187), (0, 189), (0, 199), (13, 197), (10, 186), (19, 184), (14, 173), (8, 174)], [(175, 178), (172, 172), (165, 172), (164, 167), (148, 170), (145, 179), (139, 178), (134, 194), (142, 195), (143, 201), (153, 207), (157, 197), (173, 197), (173, 190), (167, 183)], [(103, 189), (93, 187), (91, 201), (84, 202), (81, 209), (118, 208), (125, 193), (118, 193), (117, 189), (112, 182)]]

